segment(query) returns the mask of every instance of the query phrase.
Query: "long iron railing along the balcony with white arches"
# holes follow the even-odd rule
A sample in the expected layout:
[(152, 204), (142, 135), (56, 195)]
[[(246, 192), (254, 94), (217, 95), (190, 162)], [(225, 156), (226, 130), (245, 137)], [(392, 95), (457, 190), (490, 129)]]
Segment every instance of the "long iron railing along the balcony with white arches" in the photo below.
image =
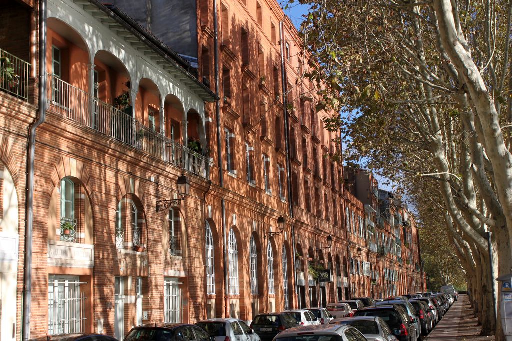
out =
[(206, 157), (55, 76), (48, 75), (48, 84), (49, 111), (209, 179), (209, 160)]

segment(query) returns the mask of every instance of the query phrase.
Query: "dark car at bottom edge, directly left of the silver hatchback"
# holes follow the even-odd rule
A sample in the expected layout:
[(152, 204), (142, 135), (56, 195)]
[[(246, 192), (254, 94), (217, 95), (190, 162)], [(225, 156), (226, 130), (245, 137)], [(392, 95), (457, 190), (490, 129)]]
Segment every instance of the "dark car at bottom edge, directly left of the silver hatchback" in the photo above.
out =
[(133, 328), (124, 341), (210, 341), (203, 329), (187, 324), (148, 324)]

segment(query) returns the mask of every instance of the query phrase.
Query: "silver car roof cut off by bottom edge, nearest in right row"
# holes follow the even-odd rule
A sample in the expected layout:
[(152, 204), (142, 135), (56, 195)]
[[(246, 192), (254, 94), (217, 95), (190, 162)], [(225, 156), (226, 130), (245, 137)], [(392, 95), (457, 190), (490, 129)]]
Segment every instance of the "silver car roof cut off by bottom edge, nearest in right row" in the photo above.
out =
[(274, 341), (367, 341), (367, 338), (351, 326), (308, 326), (292, 328), (276, 336)]

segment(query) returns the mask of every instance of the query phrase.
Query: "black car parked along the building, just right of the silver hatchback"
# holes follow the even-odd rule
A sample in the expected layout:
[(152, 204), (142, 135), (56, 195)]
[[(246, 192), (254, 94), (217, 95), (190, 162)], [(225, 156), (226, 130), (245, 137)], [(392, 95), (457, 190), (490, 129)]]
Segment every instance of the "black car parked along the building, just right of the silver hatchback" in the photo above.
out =
[(283, 330), (297, 327), (295, 317), (289, 313), (270, 313), (256, 315), (251, 323), (251, 329), (260, 336), (262, 341), (271, 341)]

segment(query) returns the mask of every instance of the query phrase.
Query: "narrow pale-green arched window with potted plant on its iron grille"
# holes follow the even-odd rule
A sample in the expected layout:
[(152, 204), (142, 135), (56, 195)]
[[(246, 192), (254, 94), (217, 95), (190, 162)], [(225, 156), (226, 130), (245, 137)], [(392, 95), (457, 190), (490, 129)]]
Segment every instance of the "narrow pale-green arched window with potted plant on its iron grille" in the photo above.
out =
[(60, 240), (76, 242), (75, 183), (68, 178), (60, 181)]

